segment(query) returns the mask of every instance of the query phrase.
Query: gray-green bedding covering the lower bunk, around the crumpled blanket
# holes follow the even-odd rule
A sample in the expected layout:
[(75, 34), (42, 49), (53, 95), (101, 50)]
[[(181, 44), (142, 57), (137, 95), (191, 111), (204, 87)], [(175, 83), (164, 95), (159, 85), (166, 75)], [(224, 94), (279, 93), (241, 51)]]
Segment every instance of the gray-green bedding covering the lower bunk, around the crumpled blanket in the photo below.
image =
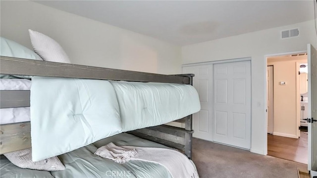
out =
[(131, 160), (121, 165), (94, 155), (99, 147), (110, 142), (118, 146), (168, 148), (128, 133), (120, 133), (58, 156), (65, 165), (64, 171), (22, 169), (1, 155), (1, 178), (172, 178), (165, 167), (156, 163)]

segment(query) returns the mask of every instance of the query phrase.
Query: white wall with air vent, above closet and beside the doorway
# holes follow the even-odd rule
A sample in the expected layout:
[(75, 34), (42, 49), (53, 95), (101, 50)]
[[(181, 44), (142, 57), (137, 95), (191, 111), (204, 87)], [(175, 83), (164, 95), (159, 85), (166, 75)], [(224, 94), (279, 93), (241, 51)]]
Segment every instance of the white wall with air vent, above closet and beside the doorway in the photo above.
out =
[[(281, 39), (281, 31), (299, 28), (299, 36)], [(265, 55), (306, 51), (317, 46), (314, 20), (182, 47), (182, 63), (251, 57), (252, 144), (251, 151), (266, 154), (266, 57)]]

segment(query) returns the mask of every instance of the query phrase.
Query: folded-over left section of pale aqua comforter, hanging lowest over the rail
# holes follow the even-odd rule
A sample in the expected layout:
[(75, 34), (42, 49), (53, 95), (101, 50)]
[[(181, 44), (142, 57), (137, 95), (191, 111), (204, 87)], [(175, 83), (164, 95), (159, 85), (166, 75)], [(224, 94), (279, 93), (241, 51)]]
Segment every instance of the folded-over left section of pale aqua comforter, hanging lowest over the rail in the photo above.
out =
[(116, 95), (106, 80), (32, 77), (30, 99), (33, 161), (121, 132)]

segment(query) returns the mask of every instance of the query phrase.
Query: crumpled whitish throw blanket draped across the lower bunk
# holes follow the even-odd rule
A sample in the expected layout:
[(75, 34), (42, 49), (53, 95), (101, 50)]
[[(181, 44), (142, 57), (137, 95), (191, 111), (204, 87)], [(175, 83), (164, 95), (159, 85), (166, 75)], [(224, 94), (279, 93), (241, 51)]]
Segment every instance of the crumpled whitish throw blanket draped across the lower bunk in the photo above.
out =
[(120, 164), (130, 160), (157, 163), (164, 166), (173, 178), (199, 178), (191, 161), (182, 153), (172, 149), (116, 146), (111, 142), (98, 148), (95, 155)]

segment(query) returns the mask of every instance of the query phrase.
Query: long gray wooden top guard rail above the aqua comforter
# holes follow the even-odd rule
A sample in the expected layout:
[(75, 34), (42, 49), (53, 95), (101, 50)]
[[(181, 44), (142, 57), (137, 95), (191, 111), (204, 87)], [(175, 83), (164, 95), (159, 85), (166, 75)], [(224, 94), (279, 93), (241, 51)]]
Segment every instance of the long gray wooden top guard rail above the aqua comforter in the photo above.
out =
[(190, 78), (184, 76), (136, 72), (69, 63), (19, 59), (3, 56), (0, 56), (0, 63), (1, 74), (10, 75), (190, 84)]

